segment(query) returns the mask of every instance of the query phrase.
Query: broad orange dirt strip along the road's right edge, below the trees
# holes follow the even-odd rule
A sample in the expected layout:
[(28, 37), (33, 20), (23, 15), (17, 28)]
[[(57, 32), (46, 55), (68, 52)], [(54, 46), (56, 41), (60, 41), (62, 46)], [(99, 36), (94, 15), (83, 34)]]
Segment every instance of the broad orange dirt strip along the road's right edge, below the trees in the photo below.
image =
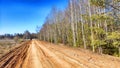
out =
[[(64, 46), (57, 46), (54, 44), (39, 42), (45, 47), (47, 47), (50, 51), (54, 52), (57, 56), (64, 58), (65, 60), (71, 62), (70, 60), (74, 60), (81, 63), (82, 68), (119, 68), (120, 59), (115, 59), (114, 57), (108, 58), (108, 56), (101, 56), (94, 53), (89, 52), (80, 52), (79, 50), (74, 50), (72, 48), (67, 48)], [(63, 57), (64, 56), (64, 57)], [(115, 61), (119, 60), (119, 61)], [(73, 62), (74, 62), (73, 61)], [(73, 63), (72, 62), (72, 63)], [(83, 65), (82, 65), (83, 64)], [(75, 64), (74, 64), (75, 65)]]

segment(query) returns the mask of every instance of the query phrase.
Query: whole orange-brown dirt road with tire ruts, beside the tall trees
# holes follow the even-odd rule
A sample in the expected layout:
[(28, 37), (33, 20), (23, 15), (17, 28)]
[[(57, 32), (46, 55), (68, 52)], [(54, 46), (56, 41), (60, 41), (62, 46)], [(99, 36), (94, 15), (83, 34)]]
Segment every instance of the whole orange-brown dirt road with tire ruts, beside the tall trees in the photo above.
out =
[(0, 68), (120, 68), (120, 59), (32, 40), (1, 57)]

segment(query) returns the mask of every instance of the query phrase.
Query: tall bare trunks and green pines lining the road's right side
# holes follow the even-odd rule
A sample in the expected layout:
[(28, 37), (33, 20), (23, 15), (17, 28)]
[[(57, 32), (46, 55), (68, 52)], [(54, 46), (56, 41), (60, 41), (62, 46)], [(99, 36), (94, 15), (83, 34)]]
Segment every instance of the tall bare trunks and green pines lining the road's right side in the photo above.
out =
[(65, 10), (52, 8), (38, 38), (120, 56), (119, 7), (119, 0), (69, 0)]

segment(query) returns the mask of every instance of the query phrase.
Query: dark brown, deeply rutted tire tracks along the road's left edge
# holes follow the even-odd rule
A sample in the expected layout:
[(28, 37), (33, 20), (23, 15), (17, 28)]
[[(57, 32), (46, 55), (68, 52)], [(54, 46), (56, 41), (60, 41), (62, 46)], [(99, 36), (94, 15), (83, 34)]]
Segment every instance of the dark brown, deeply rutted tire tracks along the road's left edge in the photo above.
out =
[(24, 60), (22, 56), (25, 56), (27, 48), (29, 48), (28, 46), (29, 43), (30, 41), (20, 45), (19, 47), (13, 49), (9, 53), (7, 53), (5, 56), (3, 56), (0, 59), (0, 68), (12, 68), (16, 64), (18, 64), (18, 61), (20, 60), (20, 58)]

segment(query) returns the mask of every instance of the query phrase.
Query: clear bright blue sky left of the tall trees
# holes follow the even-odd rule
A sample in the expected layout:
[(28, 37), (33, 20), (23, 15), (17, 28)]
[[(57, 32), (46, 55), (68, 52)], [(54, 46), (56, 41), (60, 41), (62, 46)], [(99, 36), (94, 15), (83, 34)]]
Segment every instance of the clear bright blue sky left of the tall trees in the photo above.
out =
[(0, 35), (36, 32), (53, 6), (64, 9), (68, 0), (0, 0)]

